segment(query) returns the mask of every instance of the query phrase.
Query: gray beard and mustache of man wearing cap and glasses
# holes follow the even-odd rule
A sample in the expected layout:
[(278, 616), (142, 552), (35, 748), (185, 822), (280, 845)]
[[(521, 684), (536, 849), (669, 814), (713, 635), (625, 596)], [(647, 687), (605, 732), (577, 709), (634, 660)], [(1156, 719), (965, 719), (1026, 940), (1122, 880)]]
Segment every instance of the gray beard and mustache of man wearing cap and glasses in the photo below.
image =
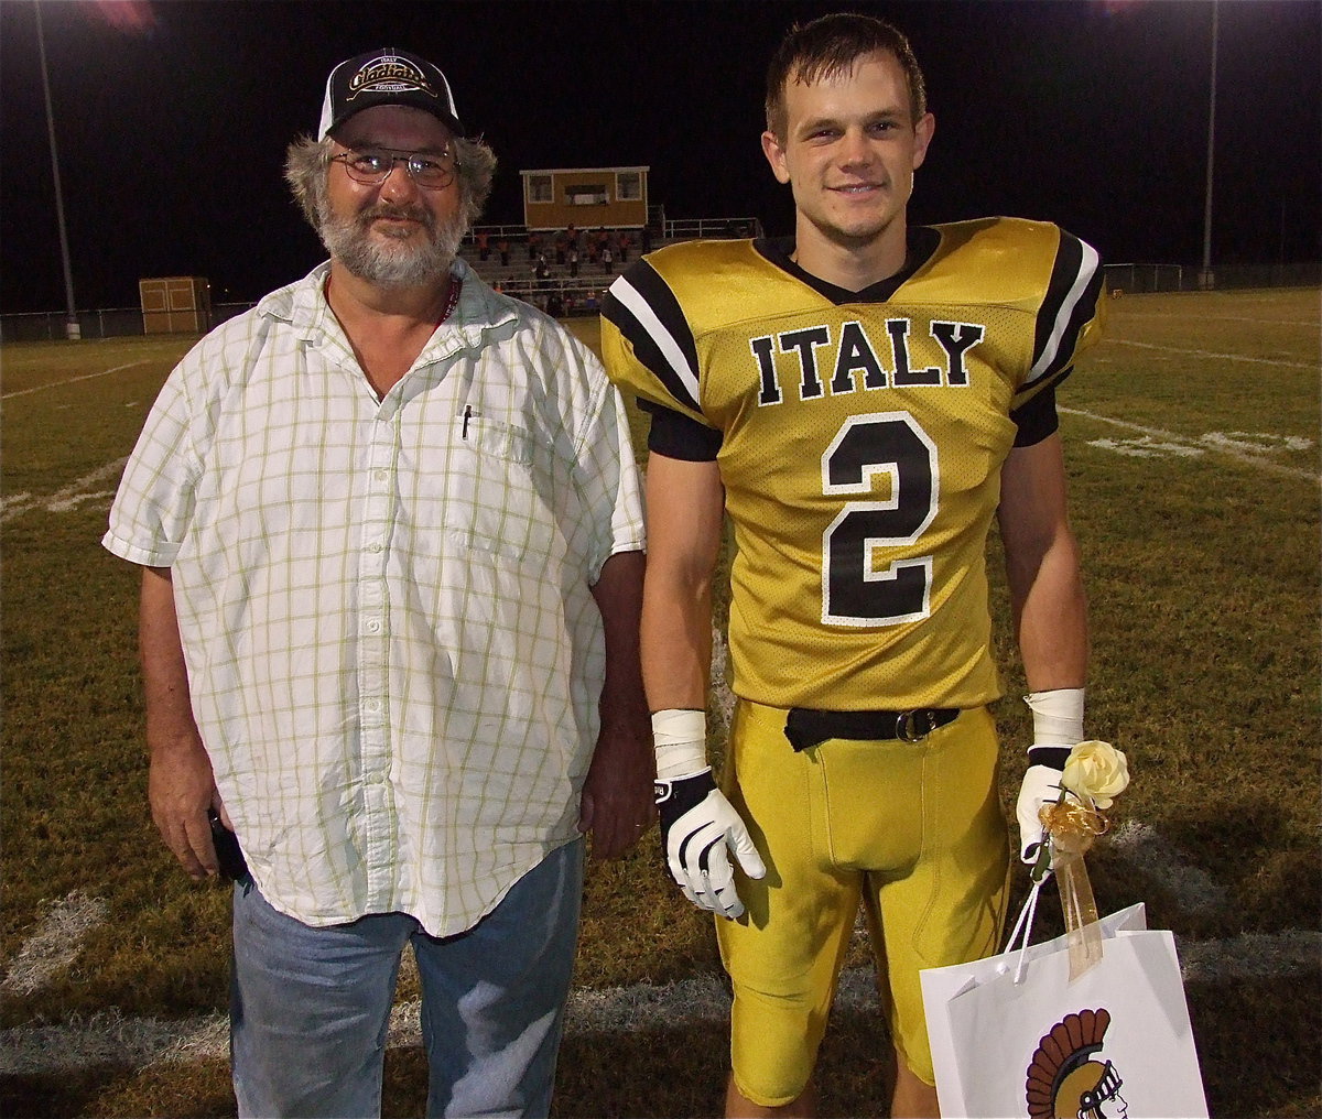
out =
[[(385, 214), (418, 218), (427, 230), (427, 242), (408, 246), (401, 239), (398, 246), (390, 246), (373, 239), (369, 229), (371, 221)], [(338, 218), (323, 198), (317, 206), (317, 231), (327, 252), (344, 264), (350, 275), (382, 288), (435, 284), (449, 271), (467, 233), (467, 223), (461, 217), (439, 222), (428, 210), (379, 202), (353, 217)]]

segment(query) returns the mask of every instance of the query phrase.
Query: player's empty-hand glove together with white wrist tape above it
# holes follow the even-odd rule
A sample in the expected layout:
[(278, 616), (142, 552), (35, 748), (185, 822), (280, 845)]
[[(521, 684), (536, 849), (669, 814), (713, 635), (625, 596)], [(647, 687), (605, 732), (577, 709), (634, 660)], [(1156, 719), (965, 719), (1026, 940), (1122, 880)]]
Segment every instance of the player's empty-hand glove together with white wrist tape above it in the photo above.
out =
[(658, 711), (652, 716), (657, 745), (656, 797), (661, 843), (670, 877), (699, 909), (734, 920), (744, 912), (730, 864), (734, 851), (750, 879), (767, 867), (748, 828), (706, 764), (706, 715), (701, 711)]

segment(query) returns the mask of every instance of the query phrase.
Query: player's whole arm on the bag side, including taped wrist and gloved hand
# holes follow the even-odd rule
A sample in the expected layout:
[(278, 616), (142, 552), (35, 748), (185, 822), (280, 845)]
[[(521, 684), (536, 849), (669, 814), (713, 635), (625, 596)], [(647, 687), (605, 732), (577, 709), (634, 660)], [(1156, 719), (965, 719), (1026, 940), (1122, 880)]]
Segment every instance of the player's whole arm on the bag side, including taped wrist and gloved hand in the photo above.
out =
[[(1083, 739), (1088, 670), (1088, 606), (1079, 546), (1069, 530), (1058, 433), (1010, 452), (1001, 468), (997, 517), (1034, 727), (1015, 801), (1019, 859), (1035, 864), (1043, 842), (1038, 812), (1060, 795), (1064, 758)], [(1035, 869), (1034, 877), (1040, 876)]]

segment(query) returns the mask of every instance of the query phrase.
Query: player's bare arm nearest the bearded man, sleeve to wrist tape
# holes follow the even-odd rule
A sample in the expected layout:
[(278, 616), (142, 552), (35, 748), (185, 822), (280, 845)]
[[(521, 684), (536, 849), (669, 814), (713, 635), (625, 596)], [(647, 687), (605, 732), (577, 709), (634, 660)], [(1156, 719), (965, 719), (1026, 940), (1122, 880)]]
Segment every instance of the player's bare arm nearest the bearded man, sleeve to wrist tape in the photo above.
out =
[(706, 711), (711, 576), (726, 494), (714, 461), (648, 456), (648, 572), (642, 584), (642, 686), (653, 711)]

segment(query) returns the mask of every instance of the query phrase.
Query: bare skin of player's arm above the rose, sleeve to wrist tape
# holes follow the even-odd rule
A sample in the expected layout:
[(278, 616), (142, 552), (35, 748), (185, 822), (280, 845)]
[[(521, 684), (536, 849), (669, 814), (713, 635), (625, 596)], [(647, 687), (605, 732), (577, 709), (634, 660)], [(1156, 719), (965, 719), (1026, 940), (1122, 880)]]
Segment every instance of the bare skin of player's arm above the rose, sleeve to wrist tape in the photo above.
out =
[(1088, 672), (1088, 605), (1069, 528), (1059, 433), (1010, 452), (1001, 468), (997, 519), (1029, 688), (1081, 688)]

